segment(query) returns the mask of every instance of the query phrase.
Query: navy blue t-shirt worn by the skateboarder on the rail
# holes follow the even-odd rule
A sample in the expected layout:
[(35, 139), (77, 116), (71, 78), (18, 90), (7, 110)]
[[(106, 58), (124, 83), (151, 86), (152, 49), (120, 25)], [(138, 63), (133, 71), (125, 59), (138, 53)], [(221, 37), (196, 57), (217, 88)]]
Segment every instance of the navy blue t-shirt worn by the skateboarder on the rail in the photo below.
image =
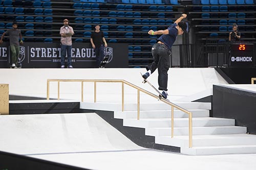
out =
[(161, 35), (157, 40), (163, 42), (166, 46), (168, 46), (169, 50), (172, 48), (177, 36), (178, 36), (178, 30), (177, 30), (177, 24), (173, 23), (170, 25), (167, 30), (169, 31), (169, 34), (163, 34)]

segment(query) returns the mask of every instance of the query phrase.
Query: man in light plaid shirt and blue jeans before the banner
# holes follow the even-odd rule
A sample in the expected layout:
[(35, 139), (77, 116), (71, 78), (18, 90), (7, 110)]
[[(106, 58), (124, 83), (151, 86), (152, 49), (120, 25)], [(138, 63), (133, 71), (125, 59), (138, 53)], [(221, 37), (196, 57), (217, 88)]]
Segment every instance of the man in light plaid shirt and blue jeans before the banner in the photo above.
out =
[(68, 62), (67, 67), (73, 68), (71, 65), (71, 50), (72, 50), (72, 35), (74, 35), (73, 28), (69, 26), (69, 20), (63, 20), (63, 26), (60, 28), (59, 34), (61, 36), (60, 43), (61, 43), (61, 58), (60, 58), (60, 68), (65, 68), (65, 58), (66, 52), (68, 55)]

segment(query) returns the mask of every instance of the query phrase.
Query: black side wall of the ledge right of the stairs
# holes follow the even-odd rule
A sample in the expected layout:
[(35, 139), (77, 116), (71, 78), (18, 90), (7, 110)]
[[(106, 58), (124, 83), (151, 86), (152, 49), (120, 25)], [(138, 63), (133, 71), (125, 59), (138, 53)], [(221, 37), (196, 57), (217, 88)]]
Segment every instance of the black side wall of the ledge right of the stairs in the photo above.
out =
[(212, 114), (236, 119), (236, 126), (256, 134), (256, 93), (214, 85)]

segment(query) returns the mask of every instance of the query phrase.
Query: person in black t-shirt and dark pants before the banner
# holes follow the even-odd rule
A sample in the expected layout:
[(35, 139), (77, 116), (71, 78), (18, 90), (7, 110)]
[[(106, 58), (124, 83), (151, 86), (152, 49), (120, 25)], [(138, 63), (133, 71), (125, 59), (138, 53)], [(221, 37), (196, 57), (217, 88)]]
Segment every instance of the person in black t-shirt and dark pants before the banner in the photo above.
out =
[(96, 67), (99, 67), (100, 62), (103, 60), (104, 47), (107, 47), (108, 44), (104, 38), (104, 33), (100, 31), (100, 26), (95, 26), (95, 31), (91, 35), (91, 43), (95, 51), (96, 56)]

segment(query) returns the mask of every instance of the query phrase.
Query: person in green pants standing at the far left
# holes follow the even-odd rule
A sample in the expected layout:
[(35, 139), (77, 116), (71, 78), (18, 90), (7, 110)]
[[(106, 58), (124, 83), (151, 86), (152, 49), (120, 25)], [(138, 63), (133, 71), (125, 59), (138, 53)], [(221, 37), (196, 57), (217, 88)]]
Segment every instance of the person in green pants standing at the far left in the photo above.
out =
[[(12, 29), (9, 29), (3, 33), (3, 35), (0, 39), (0, 44), (3, 43), (3, 38), (5, 37), (6, 34), (9, 34), (9, 39), (10, 39), (10, 48), (11, 48), (11, 53), (12, 53), (11, 67), (16, 68), (16, 66), (18, 65), (19, 43), (23, 44), (22, 33), (18, 29), (18, 24), (16, 21), (13, 21)], [(20, 41), (18, 41), (19, 40), (18, 38), (20, 38)]]

